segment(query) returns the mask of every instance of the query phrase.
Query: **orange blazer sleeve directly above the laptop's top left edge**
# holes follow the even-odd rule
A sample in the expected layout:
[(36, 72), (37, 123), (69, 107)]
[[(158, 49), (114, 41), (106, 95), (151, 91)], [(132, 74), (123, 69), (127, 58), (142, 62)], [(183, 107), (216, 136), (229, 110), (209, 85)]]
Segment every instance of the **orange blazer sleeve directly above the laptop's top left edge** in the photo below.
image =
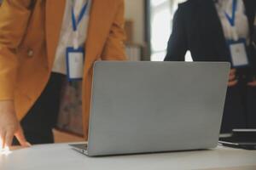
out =
[(108, 34), (102, 52), (102, 60), (125, 60), (125, 4), (124, 0), (118, 1), (117, 12)]

